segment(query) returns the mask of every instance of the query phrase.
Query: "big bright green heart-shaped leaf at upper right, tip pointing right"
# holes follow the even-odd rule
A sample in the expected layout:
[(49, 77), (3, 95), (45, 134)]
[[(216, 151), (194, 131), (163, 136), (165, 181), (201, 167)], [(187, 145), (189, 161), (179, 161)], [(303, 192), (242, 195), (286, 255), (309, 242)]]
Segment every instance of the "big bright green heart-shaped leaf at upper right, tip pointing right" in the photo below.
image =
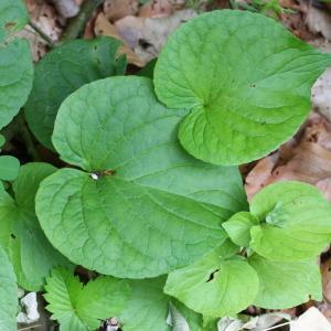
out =
[(154, 84), (186, 108), (182, 146), (197, 159), (241, 164), (275, 150), (308, 116), (313, 82), (331, 64), (261, 14), (222, 10), (183, 24), (161, 52)]

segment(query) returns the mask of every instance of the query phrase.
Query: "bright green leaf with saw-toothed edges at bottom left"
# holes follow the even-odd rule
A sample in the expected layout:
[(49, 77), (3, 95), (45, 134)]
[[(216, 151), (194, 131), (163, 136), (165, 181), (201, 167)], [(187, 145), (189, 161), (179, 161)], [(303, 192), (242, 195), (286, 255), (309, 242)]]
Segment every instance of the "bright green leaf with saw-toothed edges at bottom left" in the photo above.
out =
[(61, 331), (89, 331), (102, 321), (116, 317), (127, 305), (130, 287), (127, 280), (98, 277), (83, 286), (65, 269), (55, 269), (45, 286), (46, 309), (58, 320)]

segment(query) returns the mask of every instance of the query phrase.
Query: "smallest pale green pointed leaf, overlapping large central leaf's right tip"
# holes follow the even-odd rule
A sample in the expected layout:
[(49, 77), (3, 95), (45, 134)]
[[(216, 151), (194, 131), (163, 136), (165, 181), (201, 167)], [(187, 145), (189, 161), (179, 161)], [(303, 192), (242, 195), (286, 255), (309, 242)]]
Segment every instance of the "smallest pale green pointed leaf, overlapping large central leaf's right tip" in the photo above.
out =
[(224, 222), (222, 226), (236, 245), (248, 247), (250, 242), (249, 229), (258, 223), (258, 218), (250, 213), (239, 212), (234, 214), (227, 222)]

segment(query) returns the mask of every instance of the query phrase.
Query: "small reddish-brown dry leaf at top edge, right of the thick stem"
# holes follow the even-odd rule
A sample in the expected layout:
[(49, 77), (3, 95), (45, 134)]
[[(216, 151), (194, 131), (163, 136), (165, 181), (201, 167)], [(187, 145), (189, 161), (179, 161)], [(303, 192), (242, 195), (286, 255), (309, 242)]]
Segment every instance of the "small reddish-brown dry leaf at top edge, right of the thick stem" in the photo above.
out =
[(138, 13), (139, 0), (106, 0), (104, 2), (105, 17), (114, 22), (128, 15)]

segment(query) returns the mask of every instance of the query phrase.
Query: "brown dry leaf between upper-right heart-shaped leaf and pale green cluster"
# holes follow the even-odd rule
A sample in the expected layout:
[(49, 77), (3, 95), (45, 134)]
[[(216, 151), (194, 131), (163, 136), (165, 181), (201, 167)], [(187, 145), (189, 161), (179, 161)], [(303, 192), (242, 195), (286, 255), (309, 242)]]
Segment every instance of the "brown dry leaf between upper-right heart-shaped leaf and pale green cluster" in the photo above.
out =
[(295, 139), (255, 166), (246, 178), (248, 199), (263, 186), (284, 180), (317, 185), (331, 197), (331, 124), (322, 116), (313, 114)]

